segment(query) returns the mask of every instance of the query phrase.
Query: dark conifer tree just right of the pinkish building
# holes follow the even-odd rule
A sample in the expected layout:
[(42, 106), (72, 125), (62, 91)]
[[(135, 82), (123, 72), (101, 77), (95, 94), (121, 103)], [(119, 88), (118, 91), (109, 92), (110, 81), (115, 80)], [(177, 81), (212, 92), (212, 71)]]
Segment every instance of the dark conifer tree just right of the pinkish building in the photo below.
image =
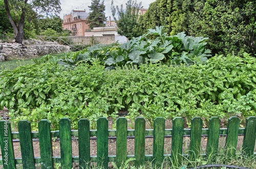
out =
[(88, 6), (90, 11), (88, 16), (89, 27), (93, 29), (94, 27), (102, 27), (105, 26), (104, 21), (106, 21), (105, 17), (105, 6), (104, 0), (100, 3), (100, 0), (92, 0), (91, 6)]

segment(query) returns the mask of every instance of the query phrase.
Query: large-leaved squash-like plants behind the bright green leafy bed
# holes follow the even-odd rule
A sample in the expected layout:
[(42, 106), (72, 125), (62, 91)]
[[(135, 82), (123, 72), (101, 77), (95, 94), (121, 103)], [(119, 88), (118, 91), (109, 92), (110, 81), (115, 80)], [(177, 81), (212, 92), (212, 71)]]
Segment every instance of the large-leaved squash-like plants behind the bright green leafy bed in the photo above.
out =
[(114, 43), (111, 46), (89, 47), (73, 54), (71, 58), (60, 60), (59, 63), (74, 66), (80, 62), (93, 62), (97, 58), (107, 69), (148, 62), (169, 65), (205, 63), (210, 56), (210, 50), (205, 49), (205, 40), (207, 38), (190, 37), (184, 33), (167, 36), (166, 33), (162, 33), (160, 26), (121, 45)]

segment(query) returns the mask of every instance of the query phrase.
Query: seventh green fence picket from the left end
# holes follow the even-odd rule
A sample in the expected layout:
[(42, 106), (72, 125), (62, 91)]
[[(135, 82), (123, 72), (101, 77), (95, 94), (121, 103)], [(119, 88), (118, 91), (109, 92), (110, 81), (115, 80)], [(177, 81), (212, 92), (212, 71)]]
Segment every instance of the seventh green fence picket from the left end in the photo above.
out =
[(116, 165), (118, 168), (126, 161), (127, 152), (127, 120), (118, 118), (116, 121)]

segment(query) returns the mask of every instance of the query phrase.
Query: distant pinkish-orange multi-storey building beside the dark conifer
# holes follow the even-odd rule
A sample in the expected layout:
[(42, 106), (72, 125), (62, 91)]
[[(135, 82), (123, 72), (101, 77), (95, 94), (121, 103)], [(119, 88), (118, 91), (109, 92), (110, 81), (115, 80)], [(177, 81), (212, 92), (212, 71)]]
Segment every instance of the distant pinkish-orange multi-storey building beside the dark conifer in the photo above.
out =
[(63, 16), (63, 29), (70, 30), (72, 36), (85, 36), (85, 33), (90, 30), (87, 24), (89, 13), (86, 11), (72, 10), (70, 14)]

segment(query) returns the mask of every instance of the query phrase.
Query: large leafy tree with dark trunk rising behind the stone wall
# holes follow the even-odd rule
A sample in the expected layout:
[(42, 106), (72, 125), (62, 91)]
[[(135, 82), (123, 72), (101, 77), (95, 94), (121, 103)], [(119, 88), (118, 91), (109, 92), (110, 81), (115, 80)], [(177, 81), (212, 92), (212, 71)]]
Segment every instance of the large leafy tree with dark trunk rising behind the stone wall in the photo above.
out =
[[(59, 0), (4, 0), (5, 10), (14, 30), (15, 42), (23, 43), (24, 25), (26, 14), (30, 11), (36, 13), (59, 13), (61, 11)], [(11, 11), (18, 13), (18, 17), (14, 18)]]

